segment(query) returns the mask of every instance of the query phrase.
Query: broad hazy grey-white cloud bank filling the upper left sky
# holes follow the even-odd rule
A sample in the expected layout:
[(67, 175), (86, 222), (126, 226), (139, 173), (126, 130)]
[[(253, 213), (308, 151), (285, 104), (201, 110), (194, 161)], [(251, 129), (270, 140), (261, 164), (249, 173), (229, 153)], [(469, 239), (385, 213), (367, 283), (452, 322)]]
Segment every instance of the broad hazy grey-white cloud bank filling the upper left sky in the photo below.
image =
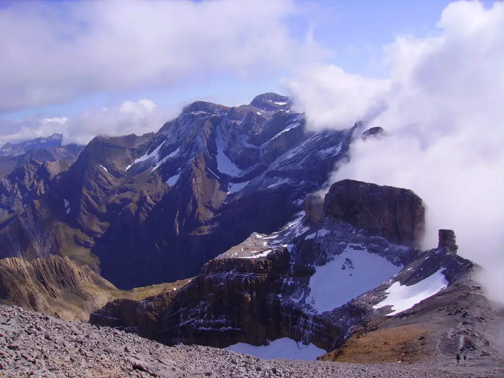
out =
[(316, 52), (292, 37), (295, 12), (293, 0), (13, 2), (0, 9), (0, 113), (289, 67)]

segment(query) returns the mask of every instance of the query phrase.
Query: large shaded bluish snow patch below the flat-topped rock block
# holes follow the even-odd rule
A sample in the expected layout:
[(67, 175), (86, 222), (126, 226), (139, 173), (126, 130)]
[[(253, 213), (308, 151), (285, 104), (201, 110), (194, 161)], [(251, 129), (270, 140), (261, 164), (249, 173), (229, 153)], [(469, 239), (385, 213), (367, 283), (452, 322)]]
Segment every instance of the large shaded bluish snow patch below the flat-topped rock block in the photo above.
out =
[(341, 255), (316, 268), (310, 278), (306, 303), (319, 312), (330, 311), (381, 284), (401, 269), (369, 253), (365, 246), (348, 244)]

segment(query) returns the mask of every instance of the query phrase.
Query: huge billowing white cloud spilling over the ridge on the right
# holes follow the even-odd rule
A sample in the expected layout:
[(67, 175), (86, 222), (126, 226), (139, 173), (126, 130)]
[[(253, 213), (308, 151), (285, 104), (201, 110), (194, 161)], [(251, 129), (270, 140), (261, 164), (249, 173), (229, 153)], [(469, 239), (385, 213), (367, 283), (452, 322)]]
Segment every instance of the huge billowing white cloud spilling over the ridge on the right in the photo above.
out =
[(452, 3), (437, 28), (385, 48), (386, 80), (319, 66), (285, 84), (313, 129), (362, 118), (386, 129), (357, 141), (332, 179), (412, 189), (428, 206), (424, 246), (454, 229), (459, 254), (485, 268), (479, 279), (504, 302), (504, 4)]

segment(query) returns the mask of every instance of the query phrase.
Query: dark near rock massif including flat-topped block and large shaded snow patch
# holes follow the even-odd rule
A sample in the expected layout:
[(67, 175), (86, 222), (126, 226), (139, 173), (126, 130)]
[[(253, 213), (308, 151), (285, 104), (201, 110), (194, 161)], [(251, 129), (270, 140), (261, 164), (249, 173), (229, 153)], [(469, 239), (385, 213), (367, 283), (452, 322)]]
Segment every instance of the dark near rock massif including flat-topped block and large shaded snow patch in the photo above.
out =
[[(345, 194), (362, 199), (350, 208), (353, 217)], [(393, 281), (413, 285), (442, 269), (455, 282), (471, 269), (447, 248), (408, 246), (424, 221), (422, 202), (410, 191), (344, 180), (325, 200), (307, 196), (304, 208), (277, 231), (252, 233), (209, 261), (185, 286), (140, 302), (108, 303), (90, 322), (167, 345), (265, 345), (288, 337), (329, 351), (368, 319), (391, 312), (373, 305)]]

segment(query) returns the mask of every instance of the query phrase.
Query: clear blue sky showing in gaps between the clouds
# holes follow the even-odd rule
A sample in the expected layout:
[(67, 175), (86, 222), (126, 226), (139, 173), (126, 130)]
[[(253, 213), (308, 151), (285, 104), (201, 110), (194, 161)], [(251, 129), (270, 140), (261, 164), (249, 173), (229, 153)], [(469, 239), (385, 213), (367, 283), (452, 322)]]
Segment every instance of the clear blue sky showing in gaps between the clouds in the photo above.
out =
[[(417, 37), (435, 34), (435, 23), (449, 2), (333, 0), (298, 4), (303, 7), (302, 14), (288, 19), (288, 27), (295, 38), (304, 39), (307, 30), (311, 28), (314, 40), (331, 50), (326, 62), (349, 73), (380, 77), (385, 74), (381, 66), (383, 46), (404, 34), (414, 34)], [(4, 7), (6, 5), (7, 3), (3, 3)], [(13, 121), (27, 117), (72, 117), (90, 108), (116, 106), (127, 99), (136, 101), (141, 98), (152, 99), (159, 106), (168, 108), (196, 99), (235, 105), (249, 102), (259, 93), (283, 92), (280, 80), (286, 76), (289, 76), (288, 69), (275, 70), (249, 79), (221, 74), (212, 76), (205, 82), (186, 81), (161, 90), (139, 87), (127, 92), (77, 96), (70, 102), (27, 108), (0, 117)]]

